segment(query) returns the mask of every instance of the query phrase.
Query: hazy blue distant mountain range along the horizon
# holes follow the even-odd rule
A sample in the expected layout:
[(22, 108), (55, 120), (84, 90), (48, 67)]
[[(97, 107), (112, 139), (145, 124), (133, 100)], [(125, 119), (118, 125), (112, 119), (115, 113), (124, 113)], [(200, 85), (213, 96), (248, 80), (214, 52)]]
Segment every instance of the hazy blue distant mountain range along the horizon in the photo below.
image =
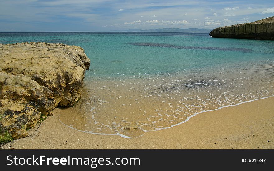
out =
[(184, 32), (184, 33), (210, 33), (213, 29), (207, 28), (158, 28), (158, 29), (129, 29), (129, 30), (112, 30), (111, 32)]

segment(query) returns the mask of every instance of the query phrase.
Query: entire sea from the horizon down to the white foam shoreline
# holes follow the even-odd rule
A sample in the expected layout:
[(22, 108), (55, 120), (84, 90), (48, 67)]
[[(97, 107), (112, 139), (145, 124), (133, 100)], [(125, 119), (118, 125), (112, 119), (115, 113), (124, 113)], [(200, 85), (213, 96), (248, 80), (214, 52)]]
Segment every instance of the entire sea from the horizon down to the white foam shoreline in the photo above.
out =
[(208, 33), (0, 33), (0, 43), (16, 42), (84, 48), (91, 65), (82, 99), (60, 121), (87, 133), (135, 138), (274, 95), (274, 41)]

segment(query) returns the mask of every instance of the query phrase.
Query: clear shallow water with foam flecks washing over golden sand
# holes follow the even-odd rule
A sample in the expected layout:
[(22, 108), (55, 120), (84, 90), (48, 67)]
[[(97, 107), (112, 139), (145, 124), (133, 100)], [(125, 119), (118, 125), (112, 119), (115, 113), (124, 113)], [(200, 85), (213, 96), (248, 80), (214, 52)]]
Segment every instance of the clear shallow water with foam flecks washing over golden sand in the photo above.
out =
[[(177, 75), (85, 81), (81, 100), (62, 110), (59, 119), (65, 125), (84, 132), (118, 133), (137, 138), (145, 131), (185, 122), (201, 111), (273, 94), (273, 81), (267, 81), (270, 78), (232, 81), (211, 76), (197, 77), (202, 81)], [(139, 129), (129, 131), (128, 127)]]

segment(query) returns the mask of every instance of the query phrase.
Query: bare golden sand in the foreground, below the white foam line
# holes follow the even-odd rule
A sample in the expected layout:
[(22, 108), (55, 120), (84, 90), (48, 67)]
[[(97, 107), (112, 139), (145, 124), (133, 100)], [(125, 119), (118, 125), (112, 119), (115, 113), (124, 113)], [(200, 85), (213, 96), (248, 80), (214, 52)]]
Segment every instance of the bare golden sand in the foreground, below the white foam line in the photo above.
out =
[(274, 97), (269, 97), (224, 107), (131, 139), (71, 129), (60, 123), (61, 109), (55, 109), (28, 137), (0, 149), (274, 149), (273, 104)]

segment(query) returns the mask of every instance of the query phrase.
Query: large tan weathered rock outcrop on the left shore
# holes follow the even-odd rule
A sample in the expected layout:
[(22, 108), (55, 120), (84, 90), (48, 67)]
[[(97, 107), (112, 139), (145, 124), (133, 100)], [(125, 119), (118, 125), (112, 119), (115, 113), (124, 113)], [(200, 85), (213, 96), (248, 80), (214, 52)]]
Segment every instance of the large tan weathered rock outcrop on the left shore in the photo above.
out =
[(89, 64), (78, 46), (0, 44), (0, 134), (26, 137), (55, 107), (74, 105)]

